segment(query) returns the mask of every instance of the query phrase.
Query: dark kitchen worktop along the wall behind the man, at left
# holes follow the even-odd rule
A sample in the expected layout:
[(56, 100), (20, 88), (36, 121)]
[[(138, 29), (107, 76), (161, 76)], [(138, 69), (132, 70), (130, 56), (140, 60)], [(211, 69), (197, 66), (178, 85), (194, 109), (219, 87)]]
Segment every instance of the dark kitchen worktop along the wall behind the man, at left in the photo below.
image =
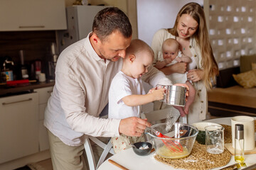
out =
[(0, 97), (11, 96), (22, 93), (23, 91), (33, 92), (33, 89), (39, 89), (48, 86), (54, 86), (55, 81), (36, 82), (28, 84), (18, 84), (17, 86), (0, 86)]

